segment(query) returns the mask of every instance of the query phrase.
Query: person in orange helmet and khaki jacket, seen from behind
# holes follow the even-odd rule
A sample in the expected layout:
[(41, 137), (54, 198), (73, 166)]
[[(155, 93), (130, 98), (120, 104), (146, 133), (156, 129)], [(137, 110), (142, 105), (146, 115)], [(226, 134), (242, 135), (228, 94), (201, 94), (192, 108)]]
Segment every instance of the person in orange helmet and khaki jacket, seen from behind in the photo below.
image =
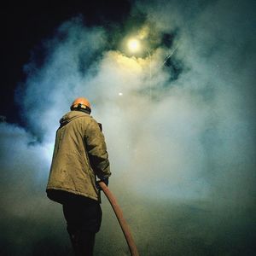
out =
[(46, 193), (62, 204), (76, 256), (93, 255), (102, 222), (98, 181), (108, 185), (108, 152), (101, 125), (90, 116), (90, 102), (75, 99), (60, 120)]

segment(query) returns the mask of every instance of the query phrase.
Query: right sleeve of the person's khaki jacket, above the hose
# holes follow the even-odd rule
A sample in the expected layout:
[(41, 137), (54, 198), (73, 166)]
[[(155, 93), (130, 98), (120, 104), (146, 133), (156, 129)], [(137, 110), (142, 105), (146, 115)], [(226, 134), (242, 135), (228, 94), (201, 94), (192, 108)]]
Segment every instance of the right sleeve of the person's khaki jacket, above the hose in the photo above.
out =
[(85, 145), (90, 160), (90, 166), (100, 179), (111, 175), (108, 152), (104, 135), (95, 119), (91, 119), (85, 131)]

